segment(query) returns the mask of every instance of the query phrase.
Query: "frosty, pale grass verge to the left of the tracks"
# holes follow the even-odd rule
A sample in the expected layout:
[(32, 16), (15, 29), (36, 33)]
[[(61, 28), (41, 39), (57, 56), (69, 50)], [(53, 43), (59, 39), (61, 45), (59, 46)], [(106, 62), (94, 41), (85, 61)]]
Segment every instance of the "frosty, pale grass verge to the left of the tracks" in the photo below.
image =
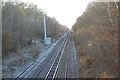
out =
[(18, 47), (15, 55), (4, 57), (2, 65), (3, 77), (15, 78), (20, 72), (25, 70), (31, 62), (35, 61), (45, 48), (46, 46), (40, 42), (26, 46), (23, 49)]

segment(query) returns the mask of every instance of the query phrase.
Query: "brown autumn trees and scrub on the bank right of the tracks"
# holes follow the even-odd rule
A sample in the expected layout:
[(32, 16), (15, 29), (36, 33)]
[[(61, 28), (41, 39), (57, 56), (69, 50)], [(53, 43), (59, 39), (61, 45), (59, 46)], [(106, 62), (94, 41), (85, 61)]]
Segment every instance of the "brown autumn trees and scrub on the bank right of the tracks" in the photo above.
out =
[(82, 77), (118, 77), (118, 6), (116, 2), (91, 2), (72, 27), (84, 66)]

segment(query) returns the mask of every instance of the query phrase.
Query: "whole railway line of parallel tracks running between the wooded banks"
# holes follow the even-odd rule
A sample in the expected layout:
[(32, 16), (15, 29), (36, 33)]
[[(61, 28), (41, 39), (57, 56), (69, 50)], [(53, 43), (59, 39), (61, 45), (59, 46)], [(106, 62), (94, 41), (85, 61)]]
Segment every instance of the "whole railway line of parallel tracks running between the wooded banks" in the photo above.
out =
[(15, 80), (26, 78), (53, 80), (71, 78), (71, 75), (72, 78), (78, 78), (72, 42), (71, 35), (65, 34), (51, 49), (46, 51), (45, 57), (31, 63)]

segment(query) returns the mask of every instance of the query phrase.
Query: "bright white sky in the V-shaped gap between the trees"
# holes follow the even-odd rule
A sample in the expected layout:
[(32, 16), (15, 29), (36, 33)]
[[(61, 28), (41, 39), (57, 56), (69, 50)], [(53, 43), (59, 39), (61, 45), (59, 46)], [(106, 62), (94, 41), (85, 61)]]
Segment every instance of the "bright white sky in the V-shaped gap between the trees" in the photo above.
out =
[(36, 4), (50, 17), (71, 29), (92, 0), (21, 0)]

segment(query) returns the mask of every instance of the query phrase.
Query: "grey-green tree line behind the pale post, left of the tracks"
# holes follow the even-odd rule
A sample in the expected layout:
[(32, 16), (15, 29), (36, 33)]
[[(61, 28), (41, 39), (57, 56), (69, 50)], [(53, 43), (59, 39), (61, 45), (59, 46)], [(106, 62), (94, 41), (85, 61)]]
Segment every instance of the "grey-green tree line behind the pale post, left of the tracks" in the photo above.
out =
[[(34, 37), (44, 37), (44, 12), (32, 3), (5, 2), (2, 7), (2, 53), (16, 52), (31, 44)], [(47, 18), (47, 35), (62, 36), (67, 28), (55, 18)]]

